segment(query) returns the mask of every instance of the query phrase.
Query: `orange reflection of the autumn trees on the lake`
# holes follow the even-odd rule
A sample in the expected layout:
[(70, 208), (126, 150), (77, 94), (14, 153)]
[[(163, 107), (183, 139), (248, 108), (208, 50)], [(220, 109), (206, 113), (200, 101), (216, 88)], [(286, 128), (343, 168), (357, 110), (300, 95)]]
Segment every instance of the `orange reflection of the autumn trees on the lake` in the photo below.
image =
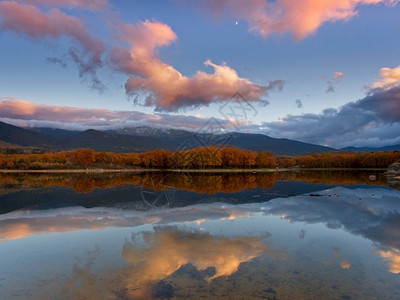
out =
[[(371, 181), (370, 175), (376, 180)], [(78, 193), (95, 188), (107, 189), (123, 185), (139, 185), (144, 190), (186, 190), (197, 193), (236, 193), (254, 188), (272, 188), (276, 181), (299, 180), (327, 185), (387, 185), (380, 172), (299, 171), (271, 173), (142, 173), (142, 174), (0, 174), (0, 185), (71, 187)]]

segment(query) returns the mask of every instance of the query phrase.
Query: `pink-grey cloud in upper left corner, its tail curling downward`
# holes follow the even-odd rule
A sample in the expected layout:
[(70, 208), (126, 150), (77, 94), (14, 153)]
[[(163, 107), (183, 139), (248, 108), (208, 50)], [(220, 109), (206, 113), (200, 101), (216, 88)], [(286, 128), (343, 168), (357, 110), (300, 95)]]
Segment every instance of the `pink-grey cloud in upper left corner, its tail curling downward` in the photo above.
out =
[(0, 28), (14, 31), (32, 38), (59, 38), (68, 36), (77, 42), (84, 51), (84, 57), (76, 48), (69, 52), (78, 64), (81, 76), (90, 74), (94, 81), (95, 72), (101, 66), (104, 51), (103, 42), (92, 36), (81, 19), (68, 16), (57, 8), (44, 13), (32, 5), (18, 4), (15, 1), (0, 2)]

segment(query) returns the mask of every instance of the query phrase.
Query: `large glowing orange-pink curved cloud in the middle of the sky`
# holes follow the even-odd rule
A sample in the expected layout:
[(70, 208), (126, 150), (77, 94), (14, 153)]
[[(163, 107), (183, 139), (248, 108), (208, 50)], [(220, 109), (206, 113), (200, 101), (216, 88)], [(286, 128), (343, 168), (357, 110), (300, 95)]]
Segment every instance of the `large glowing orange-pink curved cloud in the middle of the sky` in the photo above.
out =
[(225, 63), (218, 65), (206, 60), (204, 65), (213, 68), (213, 73), (198, 71), (193, 77), (187, 77), (162, 62), (157, 56), (158, 48), (177, 39), (168, 25), (145, 21), (136, 25), (121, 24), (116, 30), (119, 39), (128, 43), (130, 49), (115, 47), (111, 61), (117, 70), (130, 75), (125, 84), (126, 92), (145, 95), (144, 104), (147, 106), (173, 111), (226, 101), (236, 92), (249, 101), (258, 101), (268, 90), (268, 87), (239, 77)]

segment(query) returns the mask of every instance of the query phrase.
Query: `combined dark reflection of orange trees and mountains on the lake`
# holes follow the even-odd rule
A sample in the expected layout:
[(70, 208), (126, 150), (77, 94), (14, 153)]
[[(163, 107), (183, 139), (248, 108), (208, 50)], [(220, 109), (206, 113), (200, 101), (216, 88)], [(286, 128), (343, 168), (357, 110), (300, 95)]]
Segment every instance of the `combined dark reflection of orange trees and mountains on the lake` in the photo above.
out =
[(0, 174), (0, 214), (13, 210), (67, 206), (114, 206), (134, 210), (184, 207), (196, 203), (265, 202), (314, 193), (337, 184), (384, 185), (371, 172)]

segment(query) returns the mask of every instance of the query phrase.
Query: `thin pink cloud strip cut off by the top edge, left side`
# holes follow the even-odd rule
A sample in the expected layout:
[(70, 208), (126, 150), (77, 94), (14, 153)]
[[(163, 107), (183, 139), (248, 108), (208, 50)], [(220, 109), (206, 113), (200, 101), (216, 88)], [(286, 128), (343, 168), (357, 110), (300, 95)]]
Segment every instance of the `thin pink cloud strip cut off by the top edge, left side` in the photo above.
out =
[(18, 0), (31, 5), (46, 5), (66, 8), (83, 8), (90, 11), (101, 11), (109, 6), (108, 0)]

